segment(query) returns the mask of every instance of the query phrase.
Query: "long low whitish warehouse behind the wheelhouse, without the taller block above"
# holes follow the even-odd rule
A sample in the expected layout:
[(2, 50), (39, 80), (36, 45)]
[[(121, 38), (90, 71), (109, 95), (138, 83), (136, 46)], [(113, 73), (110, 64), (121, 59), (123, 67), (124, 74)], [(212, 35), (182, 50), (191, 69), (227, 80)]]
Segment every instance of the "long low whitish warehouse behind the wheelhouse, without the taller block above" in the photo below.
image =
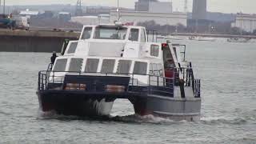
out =
[[(176, 26), (182, 24), (186, 26), (186, 13), (174, 12), (170, 14), (163, 13), (149, 13), (145, 11), (120, 11), (122, 22), (148, 22), (154, 21), (161, 26), (170, 25)], [(114, 22), (118, 19), (118, 13), (116, 10), (110, 11), (110, 22)]]

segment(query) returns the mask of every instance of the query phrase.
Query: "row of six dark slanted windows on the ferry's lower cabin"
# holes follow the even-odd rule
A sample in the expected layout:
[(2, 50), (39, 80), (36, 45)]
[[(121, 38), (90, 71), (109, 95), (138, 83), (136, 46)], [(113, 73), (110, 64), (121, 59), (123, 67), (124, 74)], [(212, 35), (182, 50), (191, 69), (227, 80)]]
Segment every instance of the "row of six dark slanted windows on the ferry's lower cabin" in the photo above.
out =
[[(54, 66), (54, 71), (65, 71), (67, 59), (58, 59)], [(68, 71), (78, 72), (82, 71), (82, 58), (71, 58), (70, 68)], [(114, 71), (114, 59), (104, 59), (102, 61), (101, 73), (113, 73)], [(86, 68), (83, 70), (87, 73), (96, 73), (98, 70), (99, 59), (88, 58), (86, 61)], [(130, 60), (119, 60), (117, 73), (129, 74), (131, 67)], [(147, 63), (146, 62), (135, 62), (133, 74), (146, 74)]]

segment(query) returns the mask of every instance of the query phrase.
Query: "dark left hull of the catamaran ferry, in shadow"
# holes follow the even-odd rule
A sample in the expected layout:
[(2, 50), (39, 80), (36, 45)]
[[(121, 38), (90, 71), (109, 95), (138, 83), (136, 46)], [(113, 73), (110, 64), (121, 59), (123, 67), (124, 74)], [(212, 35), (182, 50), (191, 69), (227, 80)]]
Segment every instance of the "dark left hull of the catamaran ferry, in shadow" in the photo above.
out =
[(95, 98), (94, 95), (43, 92), (38, 92), (38, 101), (43, 112), (77, 116), (106, 116), (114, 104), (114, 99)]

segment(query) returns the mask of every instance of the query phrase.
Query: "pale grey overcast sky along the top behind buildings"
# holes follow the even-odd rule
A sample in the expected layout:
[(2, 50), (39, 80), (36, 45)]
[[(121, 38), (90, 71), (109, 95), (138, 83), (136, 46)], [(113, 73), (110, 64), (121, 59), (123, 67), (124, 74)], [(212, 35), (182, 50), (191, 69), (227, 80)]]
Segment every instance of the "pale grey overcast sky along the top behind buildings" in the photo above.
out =
[[(3, 0), (2, 0), (3, 1)], [(134, 8), (134, 2), (138, 0), (120, 0), (123, 7)], [(184, 10), (184, 0), (161, 0), (162, 2), (173, 2), (174, 10)], [(192, 1), (188, 0), (189, 10), (192, 10)], [(207, 0), (208, 11), (225, 13), (250, 13), (256, 14), (256, 0)], [(6, 0), (6, 5), (42, 5), (42, 4), (72, 4), (77, 0)], [(117, 0), (82, 0), (83, 5), (116, 6)]]

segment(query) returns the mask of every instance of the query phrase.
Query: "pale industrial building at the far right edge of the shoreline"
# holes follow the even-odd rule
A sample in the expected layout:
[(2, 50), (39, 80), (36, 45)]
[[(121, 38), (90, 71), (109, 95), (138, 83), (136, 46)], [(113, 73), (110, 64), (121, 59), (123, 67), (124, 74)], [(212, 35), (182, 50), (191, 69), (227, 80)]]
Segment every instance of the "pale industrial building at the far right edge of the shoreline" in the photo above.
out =
[(256, 14), (237, 14), (232, 26), (252, 33), (256, 30)]

